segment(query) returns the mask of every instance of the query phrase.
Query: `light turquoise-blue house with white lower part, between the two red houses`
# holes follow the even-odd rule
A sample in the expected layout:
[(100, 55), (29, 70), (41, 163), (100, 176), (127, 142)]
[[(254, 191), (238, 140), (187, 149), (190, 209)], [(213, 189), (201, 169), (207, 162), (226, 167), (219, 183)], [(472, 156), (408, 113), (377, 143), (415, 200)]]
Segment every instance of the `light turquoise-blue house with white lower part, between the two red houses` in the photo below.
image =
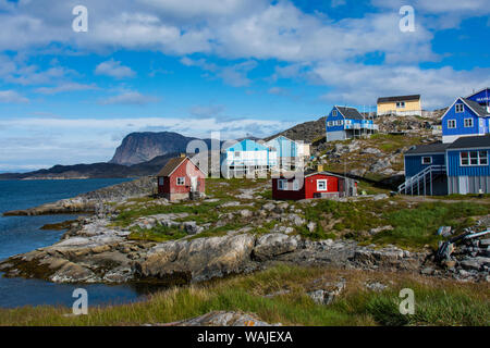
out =
[(221, 151), (221, 173), (224, 177), (265, 176), (278, 165), (277, 150), (250, 139), (244, 139)]

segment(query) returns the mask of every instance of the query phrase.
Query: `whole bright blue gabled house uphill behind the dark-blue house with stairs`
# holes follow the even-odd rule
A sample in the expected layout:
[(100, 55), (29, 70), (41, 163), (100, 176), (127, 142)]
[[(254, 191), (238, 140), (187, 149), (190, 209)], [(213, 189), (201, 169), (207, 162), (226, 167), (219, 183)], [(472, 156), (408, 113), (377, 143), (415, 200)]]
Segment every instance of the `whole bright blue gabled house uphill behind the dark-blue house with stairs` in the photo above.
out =
[(442, 142), (449, 144), (460, 137), (489, 133), (490, 114), (478, 102), (457, 98), (442, 115)]

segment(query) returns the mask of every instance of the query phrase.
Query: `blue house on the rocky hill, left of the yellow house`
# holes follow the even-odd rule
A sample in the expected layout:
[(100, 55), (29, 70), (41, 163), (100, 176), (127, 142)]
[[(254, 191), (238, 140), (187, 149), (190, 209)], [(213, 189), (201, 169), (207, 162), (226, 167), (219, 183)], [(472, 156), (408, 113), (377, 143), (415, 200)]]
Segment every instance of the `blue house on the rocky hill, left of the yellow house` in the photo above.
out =
[(366, 120), (355, 108), (333, 107), (326, 121), (327, 141), (368, 136), (378, 129), (372, 120)]

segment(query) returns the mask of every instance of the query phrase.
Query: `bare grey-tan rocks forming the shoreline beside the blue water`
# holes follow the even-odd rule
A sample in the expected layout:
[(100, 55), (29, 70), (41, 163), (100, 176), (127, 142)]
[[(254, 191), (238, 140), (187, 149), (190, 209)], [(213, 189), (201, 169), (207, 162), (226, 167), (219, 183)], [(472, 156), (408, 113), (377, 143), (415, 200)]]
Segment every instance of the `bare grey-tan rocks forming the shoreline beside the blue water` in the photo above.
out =
[[(0, 271), (7, 277), (35, 277), (53, 283), (150, 282), (171, 285), (249, 273), (285, 262), (307, 266), (411, 272), (466, 282), (489, 281), (490, 262), (481, 253), (488, 253), (488, 250), (478, 249), (478, 260), (471, 259), (478, 261), (478, 264), (468, 260), (471, 256), (462, 256), (453, 264), (440, 266), (433, 262), (430, 251), (411, 252), (395, 246), (379, 248), (376, 245), (359, 245), (352, 239), (314, 241), (292, 234), (294, 226), (305, 225), (310, 229), (315, 226), (296, 213), (285, 214), (291, 209), (297, 212), (294, 207), (286, 207), (286, 202), (269, 201), (255, 212), (242, 209), (236, 210), (236, 214), (220, 214), (221, 220), (249, 220), (254, 216), (265, 221), (278, 219), (286, 224), (277, 225), (260, 234), (253, 234), (252, 228), (243, 227), (228, 231), (221, 236), (199, 237), (209, 226), (186, 221), (188, 214), (184, 212), (147, 215), (133, 220), (125, 227), (115, 224), (114, 219), (121, 212), (108, 202), (130, 204), (128, 197), (148, 196), (154, 185), (154, 178), (145, 177), (73, 199), (26, 211), (9, 212), (8, 214), (36, 215), (83, 211), (93, 215), (81, 216), (72, 222), (59, 243), (9, 258), (0, 263)], [(250, 197), (247, 196), (246, 199), (254, 198), (253, 191), (247, 195)], [(234, 207), (234, 203), (238, 202), (228, 202), (220, 207)], [(154, 200), (152, 204), (170, 203), (159, 199)], [(249, 204), (241, 203), (237, 208), (242, 206)], [(221, 220), (217, 223), (218, 226), (224, 224)], [(151, 231), (157, 226), (177, 228), (185, 236), (160, 243), (130, 237), (134, 228)], [(481, 246), (488, 248), (488, 241), (482, 241)], [(468, 250), (476, 252), (475, 248)]]

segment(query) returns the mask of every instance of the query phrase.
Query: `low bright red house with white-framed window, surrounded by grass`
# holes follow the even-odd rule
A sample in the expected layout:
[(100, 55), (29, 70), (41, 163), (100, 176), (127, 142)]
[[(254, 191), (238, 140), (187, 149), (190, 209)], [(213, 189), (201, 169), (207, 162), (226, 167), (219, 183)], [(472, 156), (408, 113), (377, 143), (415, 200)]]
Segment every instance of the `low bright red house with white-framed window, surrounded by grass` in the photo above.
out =
[(287, 178), (272, 178), (272, 198), (299, 200), (311, 198), (336, 198), (357, 195), (357, 182), (329, 172), (305, 173)]

